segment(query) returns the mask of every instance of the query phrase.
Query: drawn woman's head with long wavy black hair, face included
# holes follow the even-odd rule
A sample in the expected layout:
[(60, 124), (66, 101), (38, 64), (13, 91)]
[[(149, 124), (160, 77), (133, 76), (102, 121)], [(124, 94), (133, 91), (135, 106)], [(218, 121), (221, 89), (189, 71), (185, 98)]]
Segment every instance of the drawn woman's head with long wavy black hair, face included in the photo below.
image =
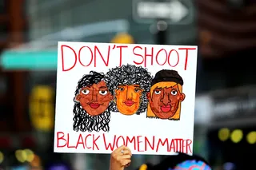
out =
[(113, 95), (107, 85), (109, 79), (103, 73), (90, 71), (78, 81), (74, 97), (74, 131), (109, 132), (110, 106)]

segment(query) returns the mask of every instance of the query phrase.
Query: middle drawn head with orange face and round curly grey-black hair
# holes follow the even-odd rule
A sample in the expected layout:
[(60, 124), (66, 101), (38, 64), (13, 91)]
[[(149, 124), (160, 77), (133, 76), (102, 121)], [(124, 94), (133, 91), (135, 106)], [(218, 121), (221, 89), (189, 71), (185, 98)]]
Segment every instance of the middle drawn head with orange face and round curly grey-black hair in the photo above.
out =
[(147, 69), (142, 66), (122, 65), (110, 69), (106, 77), (110, 80), (106, 82), (110, 93), (114, 94), (111, 111), (124, 115), (146, 112), (146, 93), (150, 91), (150, 82), (153, 79)]

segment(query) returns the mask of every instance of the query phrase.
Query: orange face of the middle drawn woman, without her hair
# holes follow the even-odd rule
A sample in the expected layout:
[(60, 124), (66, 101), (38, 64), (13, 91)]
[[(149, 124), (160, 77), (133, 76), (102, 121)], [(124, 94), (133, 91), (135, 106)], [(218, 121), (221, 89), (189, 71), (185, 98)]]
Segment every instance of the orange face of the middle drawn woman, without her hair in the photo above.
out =
[(116, 105), (120, 113), (133, 115), (140, 106), (142, 89), (139, 85), (118, 85), (115, 90)]

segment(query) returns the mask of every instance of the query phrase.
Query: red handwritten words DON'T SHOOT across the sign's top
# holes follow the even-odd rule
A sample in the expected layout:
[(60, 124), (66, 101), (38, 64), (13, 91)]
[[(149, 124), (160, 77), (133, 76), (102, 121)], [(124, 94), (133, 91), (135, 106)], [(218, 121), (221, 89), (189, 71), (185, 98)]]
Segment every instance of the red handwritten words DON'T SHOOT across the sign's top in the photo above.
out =
[(76, 65), (82, 67), (109, 66), (111, 62), (116, 63), (118, 61), (117, 66), (121, 66), (124, 53), (131, 58), (131, 62), (135, 65), (143, 65), (144, 67), (150, 65), (176, 67), (181, 65), (186, 70), (190, 60), (190, 52), (196, 49), (189, 47), (158, 49), (140, 45), (128, 47), (128, 45), (114, 44), (105, 46), (84, 45), (78, 49), (74, 49), (70, 45), (61, 45), (60, 48), (63, 72), (74, 69)]

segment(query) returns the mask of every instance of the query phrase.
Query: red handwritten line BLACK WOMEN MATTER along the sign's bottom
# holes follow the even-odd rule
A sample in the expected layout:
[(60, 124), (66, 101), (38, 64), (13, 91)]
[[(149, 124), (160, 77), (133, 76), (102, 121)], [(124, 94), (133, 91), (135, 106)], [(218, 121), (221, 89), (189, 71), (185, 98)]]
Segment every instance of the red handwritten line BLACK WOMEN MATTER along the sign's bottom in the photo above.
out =
[[(191, 153), (192, 140), (190, 139), (169, 139), (157, 138), (156, 136), (117, 136), (108, 137), (102, 135), (80, 133), (76, 139), (72, 139), (69, 133), (57, 132), (57, 148), (75, 148), (86, 150), (110, 150), (113, 151), (122, 145), (129, 146), (138, 152), (154, 151), (164, 149), (166, 152)], [(71, 142), (73, 141), (73, 142)]]

